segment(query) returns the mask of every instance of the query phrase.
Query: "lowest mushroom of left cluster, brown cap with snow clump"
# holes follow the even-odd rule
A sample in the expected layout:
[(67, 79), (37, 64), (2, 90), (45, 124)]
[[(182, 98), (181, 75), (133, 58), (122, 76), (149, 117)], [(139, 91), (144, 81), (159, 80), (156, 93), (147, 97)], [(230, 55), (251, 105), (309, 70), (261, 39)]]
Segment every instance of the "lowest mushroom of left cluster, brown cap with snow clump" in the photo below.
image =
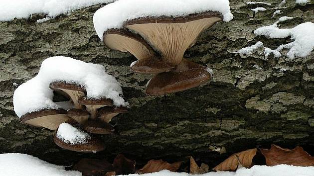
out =
[(60, 124), (53, 140), (59, 147), (75, 152), (95, 153), (105, 149), (98, 138), (82, 131), (73, 119)]

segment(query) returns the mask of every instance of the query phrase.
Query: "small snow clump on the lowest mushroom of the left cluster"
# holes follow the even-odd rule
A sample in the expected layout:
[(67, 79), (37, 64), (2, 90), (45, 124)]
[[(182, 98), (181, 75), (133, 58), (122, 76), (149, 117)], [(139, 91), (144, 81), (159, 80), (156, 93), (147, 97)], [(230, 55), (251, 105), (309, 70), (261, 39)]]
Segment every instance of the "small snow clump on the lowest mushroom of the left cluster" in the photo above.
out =
[(77, 128), (74, 128), (72, 125), (68, 123), (61, 123), (59, 125), (57, 134), (57, 138), (63, 140), (65, 143), (69, 143), (71, 145), (75, 144), (85, 144), (90, 136)]

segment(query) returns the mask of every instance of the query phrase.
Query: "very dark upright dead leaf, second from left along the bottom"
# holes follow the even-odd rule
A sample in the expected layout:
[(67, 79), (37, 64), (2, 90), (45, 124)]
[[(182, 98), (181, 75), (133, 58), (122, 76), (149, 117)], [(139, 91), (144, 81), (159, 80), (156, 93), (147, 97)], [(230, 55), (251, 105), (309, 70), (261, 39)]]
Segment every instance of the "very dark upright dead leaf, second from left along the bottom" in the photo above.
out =
[(124, 155), (119, 154), (113, 163), (116, 175), (128, 175), (135, 173), (135, 161), (129, 160)]

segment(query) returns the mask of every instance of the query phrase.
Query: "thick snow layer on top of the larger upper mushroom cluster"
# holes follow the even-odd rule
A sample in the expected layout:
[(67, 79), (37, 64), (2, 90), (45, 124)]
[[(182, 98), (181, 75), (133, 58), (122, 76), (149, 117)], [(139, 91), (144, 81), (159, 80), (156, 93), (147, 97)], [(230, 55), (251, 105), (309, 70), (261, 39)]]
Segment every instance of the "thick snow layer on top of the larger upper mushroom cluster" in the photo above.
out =
[(93, 17), (99, 38), (110, 28), (122, 28), (123, 22), (148, 16), (186, 16), (192, 13), (219, 11), (224, 21), (233, 18), (229, 0), (117, 0), (100, 9)]

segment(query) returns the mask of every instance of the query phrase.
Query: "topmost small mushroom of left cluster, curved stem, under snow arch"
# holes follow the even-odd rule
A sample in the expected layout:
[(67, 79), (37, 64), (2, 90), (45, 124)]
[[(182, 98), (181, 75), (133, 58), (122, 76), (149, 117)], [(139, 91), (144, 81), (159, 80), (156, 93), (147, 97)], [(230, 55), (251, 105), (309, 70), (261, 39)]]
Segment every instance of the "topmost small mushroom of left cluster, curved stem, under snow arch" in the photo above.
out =
[(49, 85), (49, 88), (53, 90), (64, 91), (73, 101), (74, 108), (82, 109), (83, 106), (78, 103), (78, 99), (82, 96), (85, 96), (86, 90), (84, 88), (81, 88), (76, 84), (69, 84), (64, 82), (53, 82)]

